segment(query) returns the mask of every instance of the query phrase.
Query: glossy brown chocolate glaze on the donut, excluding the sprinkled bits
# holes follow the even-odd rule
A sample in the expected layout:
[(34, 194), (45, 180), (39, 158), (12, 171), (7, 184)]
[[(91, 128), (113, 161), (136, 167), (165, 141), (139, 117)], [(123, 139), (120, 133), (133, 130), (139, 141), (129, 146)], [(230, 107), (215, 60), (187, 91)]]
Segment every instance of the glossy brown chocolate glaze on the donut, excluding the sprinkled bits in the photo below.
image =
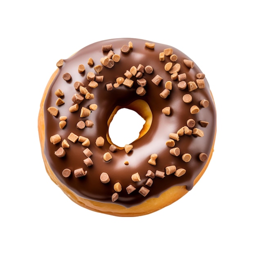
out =
[[(128, 54), (123, 54), (121, 47), (128, 45), (129, 41), (133, 43), (133, 49), (131, 49)], [(154, 49), (148, 49), (145, 47), (145, 42), (147, 41), (134, 38), (121, 38), (88, 45), (70, 58), (64, 60), (63, 66), (59, 68), (58, 74), (47, 92), (44, 103), (44, 153), (49, 162), (49, 166), (52, 168), (58, 180), (82, 198), (131, 207), (140, 204), (148, 198), (157, 198), (161, 193), (172, 186), (185, 185), (187, 190), (191, 190), (195, 177), (198, 176), (206, 163), (201, 162), (198, 159), (198, 155), (200, 153), (206, 153), (209, 156), (211, 152), (216, 132), (216, 110), (207, 79), (204, 79), (204, 89), (196, 89), (192, 92), (188, 92), (187, 89), (179, 90), (177, 88), (178, 81), (172, 81), (171, 75), (164, 70), (165, 63), (170, 62), (169, 57), (165, 56), (164, 62), (159, 61), (159, 53), (170, 46), (156, 43)], [(101, 64), (101, 57), (107, 55), (106, 52), (102, 52), (102, 45), (110, 44), (112, 44), (113, 52), (119, 54), (121, 59), (118, 63), (115, 63), (114, 67), (111, 69), (103, 67), (103, 70), (99, 74), (104, 76), (103, 82), (99, 83), (97, 88), (90, 88), (87, 86), (89, 81), (86, 79), (86, 74), (93, 72), (97, 75), (97, 73), (94, 71), (93, 66), (87, 64), (87, 61), (89, 58), (92, 58), (94, 65)], [(186, 67), (183, 63), (183, 59), (190, 58), (174, 47), (171, 48), (173, 48), (173, 54), (178, 56), (176, 63), (180, 63), (181, 65), (179, 74), (186, 73), (186, 82), (195, 81), (196, 74), (202, 73), (202, 71), (196, 64), (191, 69)], [(85, 65), (85, 72), (78, 72), (79, 64)], [(132, 80), (135, 82), (131, 88), (120, 85), (118, 88), (113, 88), (112, 91), (106, 90), (107, 83), (115, 83), (117, 77), (124, 77), (126, 70), (130, 70), (132, 66), (137, 67), (139, 64), (144, 65), (144, 67), (146, 65), (153, 67), (152, 74), (144, 73), (143, 76), (147, 81), (147, 85), (145, 86), (146, 94), (144, 96), (141, 97), (136, 94), (138, 85), (135, 77), (132, 77)], [(173, 63), (173, 65), (174, 64), (175, 63)], [(65, 72), (71, 74), (72, 79), (70, 81), (63, 80), (62, 75)], [(157, 74), (163, 78), (158, 86), (151, 81)], [(73, 86), (76, 81), (83, 82), (88, 91), (94, 94), (94, 99), (84, 99), (79, 105), (79, 110), (71, 113), (69, 108), (74, 104), (71, 98), (74, 94), (79, 93)], [(159, 93), (164, 90), (166, 81), (172, 81), (173, 89), (166, 99), (162, 99)], [(64, 92), (65, 95), (62, 99), (65, 103), (57, 107), (59, 110), (58, 115), (54, 117), (49, 114), (47, 108), (51, 106), (56, 107), (55, 102), (57, 97), (54, 92), (57, 89), (61, 89)], [(191, 94), (193, 97), (193, 101), (189, 104), (182, 101), (182, 96), (187, 93)], [(126, 107), (137, 99), (143, 99), (148, 103), (153, 113), (152, 125), (143, 137), (132, 143), (133, 149), (130, 153), (127, 154), (124, 150), (117, 150), (112, 153), (109, 151), (110, 144), (106, 139), (108, 132), (107, 121), (116, 106)], [(209, 101), (208, 108), (200, 107), (199, 103), (202, 99)], [(92, 103), (98, 105), (97, 110), (92, 111), (89, 117), (81, 118), (81, 107), (84, 106), (88, 108)], [(198, 114), (192, 115), (190, 113), (190, 108), (193, 105), (197, 105), (200, 108)], [(171, 107), (171, 115), (169, 116), (162, 114), (162, 109), (166, 106)], [(60, 116), (67, 116), (67, 125), (64, 129), (59, 128)], [(170, 148), (165, 144), (169, 139), (169, 133), (177, 132), (180, 128), (186, 126), (186, 121), (191, 118), (196, 121), (195, 127), (203, 130), (204, 137), (195, 137), (193, 135), (180, 137), (180, 141), (175, 141), (175, 146), (180, 148), (180, 156), (175, 157), (169, 153)], [(83, 130), (76, 128), (78, 121), (85, 121), (86, 119), (94, 122), (92, 128), (85, 128)], [(201, 120), (208, 121), (209, 125), (206, 128), (202, 128), (199, 123)], [(87, 167), (83, 163), (83, 159), (86, 158), (83, 154), (85, 147), (78, 141), (73, 143), (67, 139), (70, 132), (90, 139), (89, 149), (93, 153), (90, 158), (94, 163), (92, 166)], [(54, 155), (54, 152), (61, 146), (61, 143), (53, 145), (50, 142), (50, 137), (55, 134), (59, 134), (62, 140), (67, 139), (70, 144), (70, 148), (65, 148), (65, 157), (59, 158)], [(99, 136), (105, 139), (105, 144), (102, 147), (97, 147), (95, 144)], [(112, 159), (109, 162), (103, 160), (103, 154), (106, 152), (110, 152), (112, 155)], [(191, 154), (192, 159), (190, 162), (185, 163), (182, 161), (181, 156), (184, 153)], [(156, 166), (148, 164), (151, 154), (158, 155)], [(124, 164), (126, 160), (129, 162), (128, 165)], [(163, 179), (155, 177), (151, 187), (145, 185), (148, 179), (145, 175), (148, 170), (153, 172), (156, 170), (165, 171), (165, 167), (170, 165), (175, 165), (177, 168), (184, 168), (186, 169), (186, 173), (181, 177), (176, 177), (173, 174), (165, 175)], [(81, 167), (87, 171), (87, 175), (79, 178), (74, 177), (74, 170)], [(65, 168), (69, 168), (72, 171), (70, 177), (63, 177), (62, 171)], [(108, 173), (110, 177), (108, 184), (103, 184), (100, 181), (102, 172)], [(141, 177), (141, 181), (132, 182), (131, 175), (137, 172)], [(122, 191), (118, 193), (118, 200), (112, 202), (111, 196), (115, 193), (113, 186), (116, 182), (121, 183)], [(130, 184), (135, 186), (136, 190), (128, 195), (126, 187)], [(146, 197), (138, 193), (141, 186), (145, 186), (150, 190)]]

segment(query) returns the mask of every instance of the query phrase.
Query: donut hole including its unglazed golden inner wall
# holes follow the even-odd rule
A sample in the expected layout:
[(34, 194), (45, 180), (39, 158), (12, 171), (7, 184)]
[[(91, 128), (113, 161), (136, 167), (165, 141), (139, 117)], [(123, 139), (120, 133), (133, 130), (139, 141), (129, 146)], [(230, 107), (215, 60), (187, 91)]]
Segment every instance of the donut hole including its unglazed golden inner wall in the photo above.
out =
[(108, 142), (119, 149), (124, 148), (146, 134), (152, 119), (146, 101), (137, 100), (125, 107), (117, 106), (108, 119)]

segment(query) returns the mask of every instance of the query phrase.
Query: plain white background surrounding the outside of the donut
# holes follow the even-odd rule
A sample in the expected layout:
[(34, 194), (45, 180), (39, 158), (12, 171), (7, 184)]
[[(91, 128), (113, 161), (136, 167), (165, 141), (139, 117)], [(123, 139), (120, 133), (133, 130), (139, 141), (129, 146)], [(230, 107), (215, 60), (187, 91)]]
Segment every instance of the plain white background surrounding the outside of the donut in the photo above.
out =
[[(2, 1), (0, 255), (255, 255), (252, 3)], [(192, 58), (218, 113), (202, 179), (171, 206), (135, 218), (95, 213), (68, 199), (45, 171), (37, 132), (56, 62), (121, 37), (165, 43)]]

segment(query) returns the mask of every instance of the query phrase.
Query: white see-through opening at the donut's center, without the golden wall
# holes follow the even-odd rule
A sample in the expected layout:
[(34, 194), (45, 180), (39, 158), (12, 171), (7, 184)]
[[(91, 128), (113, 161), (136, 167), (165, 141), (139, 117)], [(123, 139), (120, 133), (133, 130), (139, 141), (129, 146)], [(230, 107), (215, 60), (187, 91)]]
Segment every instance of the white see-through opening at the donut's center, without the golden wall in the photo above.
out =
[(136, 111), (128, 108), (117, 110), (109, 128), (108, 134), (113, 144), (124, 147), (139, 138), (140, 132), (146, 123)]

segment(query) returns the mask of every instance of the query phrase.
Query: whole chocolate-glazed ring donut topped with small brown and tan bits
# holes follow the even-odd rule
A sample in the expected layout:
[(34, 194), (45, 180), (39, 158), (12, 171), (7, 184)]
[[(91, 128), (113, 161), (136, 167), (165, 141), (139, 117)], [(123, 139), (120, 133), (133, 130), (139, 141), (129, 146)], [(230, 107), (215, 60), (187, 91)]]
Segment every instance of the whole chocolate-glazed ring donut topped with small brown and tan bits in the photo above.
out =
[[(38, 132), (46, 171), (71, 200), (99, 213), (143, 216), (193, 188), (213, 154), (216, 107), (191, 58), (170, 45), (115, 38), (56, 65)], [(119, 146), (109, 126), (123, 108), (145, 123), (135, 141)]]

